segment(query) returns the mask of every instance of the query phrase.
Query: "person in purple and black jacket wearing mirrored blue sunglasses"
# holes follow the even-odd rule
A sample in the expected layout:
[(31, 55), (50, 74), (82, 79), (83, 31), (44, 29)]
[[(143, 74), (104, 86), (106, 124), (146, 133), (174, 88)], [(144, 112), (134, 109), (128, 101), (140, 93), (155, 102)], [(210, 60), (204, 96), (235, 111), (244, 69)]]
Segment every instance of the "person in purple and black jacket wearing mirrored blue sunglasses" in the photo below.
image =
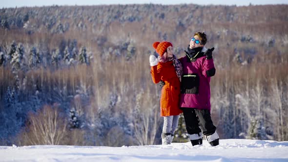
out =
[(212, 58), (214, 47), (206, 49), (206, 42), (204, 32), (195, 33), (185, 51), (186, 56), (179, 59), (183, 65), (180, 107), (193, 146), (202, 144), (202, 132), (212, 146), (219, 144), (210, 116), (210, 79), (216, 71)]

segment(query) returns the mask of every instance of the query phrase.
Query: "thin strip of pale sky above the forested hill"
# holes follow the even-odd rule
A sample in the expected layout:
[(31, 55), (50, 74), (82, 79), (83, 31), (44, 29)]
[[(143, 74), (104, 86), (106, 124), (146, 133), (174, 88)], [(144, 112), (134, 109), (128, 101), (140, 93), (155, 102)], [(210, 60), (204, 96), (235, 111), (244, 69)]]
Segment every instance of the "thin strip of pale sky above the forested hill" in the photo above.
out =
[(0, 8), (46, 5), (99, 5), (99, 4), (185, 4), (194, 3), (201, 5), (264, 5), (288, 4), (288, 0), (0, 0)]

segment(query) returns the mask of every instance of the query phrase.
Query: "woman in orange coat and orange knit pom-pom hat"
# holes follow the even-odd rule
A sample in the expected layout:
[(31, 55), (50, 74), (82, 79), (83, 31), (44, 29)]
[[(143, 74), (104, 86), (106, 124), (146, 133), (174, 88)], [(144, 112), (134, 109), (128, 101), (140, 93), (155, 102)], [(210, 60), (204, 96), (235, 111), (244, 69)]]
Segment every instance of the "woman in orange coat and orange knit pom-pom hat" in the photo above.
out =
[(167, 41), (154, 42), (153, 47), (159, 57), (156, 58), (151, 55), (149, 58), (152, 81), (154, 83), (165, 82), (160, 101), (161, 116), (164, 117), (162, 144), (170, 144), (178, 127), (179, 114), (182, 113), (179, 108), (182, 65), (173, 55), (172, 43)]

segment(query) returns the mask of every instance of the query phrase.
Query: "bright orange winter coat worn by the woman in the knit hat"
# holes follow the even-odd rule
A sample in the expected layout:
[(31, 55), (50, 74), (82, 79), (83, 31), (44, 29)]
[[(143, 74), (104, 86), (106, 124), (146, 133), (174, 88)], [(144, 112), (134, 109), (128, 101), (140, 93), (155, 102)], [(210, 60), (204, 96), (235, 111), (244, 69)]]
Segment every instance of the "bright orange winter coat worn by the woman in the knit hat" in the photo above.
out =
[(176, 75), (173, 61), (159, 62), (158, 65), (151, 66), (151, 77), (155, 84), (161, 80), (165, 82), (160, 99), (161, 116), (181, 114), (182, 110), (179, 108), (180, 80)]

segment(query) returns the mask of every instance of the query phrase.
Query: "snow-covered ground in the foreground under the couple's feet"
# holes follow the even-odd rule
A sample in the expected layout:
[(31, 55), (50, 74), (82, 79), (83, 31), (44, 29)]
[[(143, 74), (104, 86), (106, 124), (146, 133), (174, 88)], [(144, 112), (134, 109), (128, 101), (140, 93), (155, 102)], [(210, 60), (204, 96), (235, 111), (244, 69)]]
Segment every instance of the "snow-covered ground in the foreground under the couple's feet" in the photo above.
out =
[(0, 162), (288, 162), (288, 141), (228, 139), (146, 146), (0, 146)]

